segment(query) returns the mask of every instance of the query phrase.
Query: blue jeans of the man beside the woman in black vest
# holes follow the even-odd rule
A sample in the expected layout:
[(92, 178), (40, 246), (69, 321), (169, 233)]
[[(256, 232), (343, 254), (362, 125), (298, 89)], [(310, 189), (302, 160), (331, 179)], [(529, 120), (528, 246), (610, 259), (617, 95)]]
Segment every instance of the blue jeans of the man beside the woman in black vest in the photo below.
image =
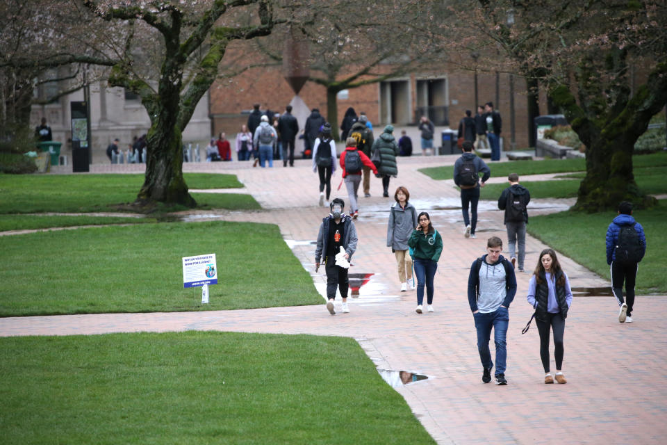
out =
[(493, 327), (493, 341), (495, 341), (495, 375), (505, 373), (507, 362), (507, 325), (509, 325), (509, 311), (507, 307), (499, 307), (495, 312), (488, 314), (472, 314), (475, 318), (477, 329), (477, 350), (481, 366), (486, 369), (493, 368), (491, 351), (488, 350), (488, 341), (491, 338), (491, 327)]

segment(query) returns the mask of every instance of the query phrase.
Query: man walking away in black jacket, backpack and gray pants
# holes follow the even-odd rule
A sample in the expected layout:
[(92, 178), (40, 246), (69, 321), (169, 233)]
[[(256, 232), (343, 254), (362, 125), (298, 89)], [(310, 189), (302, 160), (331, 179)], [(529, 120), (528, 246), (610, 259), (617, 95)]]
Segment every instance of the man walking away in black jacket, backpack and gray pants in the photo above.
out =
[(519, 184), (519, 175), (510, 173), (507, 177), (509, 187), (505, 188), (498, 198), (498, 209), (505, 211), (504, 223), (507, 229), (507, 244), (512, 266), (516, 264), (515, 246), (519, 245), (519, 271), (523, 272), (526, 257), (526, 225), (530, 193), (527, 188)]

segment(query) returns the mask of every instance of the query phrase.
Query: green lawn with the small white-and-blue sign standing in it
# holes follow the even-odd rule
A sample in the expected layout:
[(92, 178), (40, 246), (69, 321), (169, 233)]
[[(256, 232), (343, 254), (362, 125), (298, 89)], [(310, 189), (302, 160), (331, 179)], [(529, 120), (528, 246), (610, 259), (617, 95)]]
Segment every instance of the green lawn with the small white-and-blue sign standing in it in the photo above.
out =
[[(0, 316), (316, 305), (276, 225), (159, 223), (0, 236)], [(181, 257), (215, 253), (211, 303), (183, 289)]]

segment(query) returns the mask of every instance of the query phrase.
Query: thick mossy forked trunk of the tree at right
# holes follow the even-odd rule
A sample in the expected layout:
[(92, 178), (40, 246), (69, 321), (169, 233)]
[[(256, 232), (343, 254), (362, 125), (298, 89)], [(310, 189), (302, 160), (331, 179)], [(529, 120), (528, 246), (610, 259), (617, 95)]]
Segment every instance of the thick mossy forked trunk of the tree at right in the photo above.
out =
[[(586, 79), (594, 79), (584, 74)], [(632, 99), (623, 89), (615, 91), (617, 100), (611, 106), (600, 96), (591, 95), (591, 83), (578, 86), (579, 104), (566, 86), (550, 91), (554, 104), (586, 145), (586, 177), (579, 186), (574, 209), (616, 209), (621, 201), (632, 202), (636, 208), (651, 207), (655, 198), (642, 193), (634, 181), (632, 154), (651, 117), (667, 102), (667, 63), (657, 65)]]

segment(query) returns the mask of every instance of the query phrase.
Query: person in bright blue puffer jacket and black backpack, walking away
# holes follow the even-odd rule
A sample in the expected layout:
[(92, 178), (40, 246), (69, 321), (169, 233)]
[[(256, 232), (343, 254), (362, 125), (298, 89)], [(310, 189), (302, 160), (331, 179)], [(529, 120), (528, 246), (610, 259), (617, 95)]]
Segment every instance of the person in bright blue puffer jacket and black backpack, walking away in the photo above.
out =
[[(611, 269), (611, 291), (614, 292), (620, 323), (632, 323), (634, 284), (639, 261), (646, 253), (646, 236), (641, 224), (632, 216), (632, 203), (618, 204), (618, 216), (607, 228), (607, 264)], [(625, 282), (626, 301), (623, 300)]]

